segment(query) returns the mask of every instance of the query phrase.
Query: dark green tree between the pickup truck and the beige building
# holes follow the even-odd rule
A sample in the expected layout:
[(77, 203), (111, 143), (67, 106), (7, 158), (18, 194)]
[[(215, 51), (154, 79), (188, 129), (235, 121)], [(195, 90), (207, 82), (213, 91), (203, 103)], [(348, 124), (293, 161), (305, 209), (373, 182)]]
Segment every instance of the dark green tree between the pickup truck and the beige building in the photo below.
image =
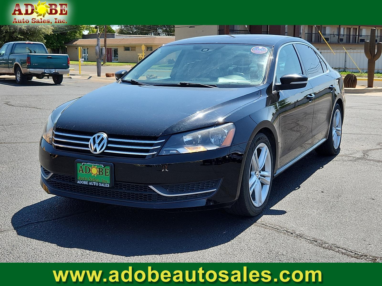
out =
[(84, 25), (54, 26), (53, 33), (45, 35), (45, 45), (53, 53), (59, 53), (65, 50), (65, 43), (81, 39), (83, 32), (88, 28), (89, 26)]

